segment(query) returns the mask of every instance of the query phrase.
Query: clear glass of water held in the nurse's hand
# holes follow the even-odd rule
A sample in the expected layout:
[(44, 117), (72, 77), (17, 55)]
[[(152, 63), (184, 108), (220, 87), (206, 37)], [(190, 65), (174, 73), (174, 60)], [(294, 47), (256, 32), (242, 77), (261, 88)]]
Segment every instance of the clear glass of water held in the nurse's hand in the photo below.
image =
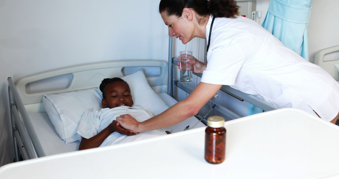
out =
[(193, 65), (190, 63), (192, 51), (180, 52), (180, 81), (191, 82)]

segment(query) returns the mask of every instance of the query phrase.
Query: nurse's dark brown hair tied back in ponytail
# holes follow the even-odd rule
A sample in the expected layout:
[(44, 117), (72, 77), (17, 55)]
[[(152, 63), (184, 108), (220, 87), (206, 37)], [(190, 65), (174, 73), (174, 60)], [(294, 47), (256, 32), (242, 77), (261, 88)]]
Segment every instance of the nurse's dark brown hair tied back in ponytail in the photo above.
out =
[(235, 0), (161, 0), (159, 12), (166, 12), (168, 16), (181, 17), (185, 7), (193, 9), (198, 15), (212, 14), (213, 17), (235, 18), (239, 15), (239, 6)]

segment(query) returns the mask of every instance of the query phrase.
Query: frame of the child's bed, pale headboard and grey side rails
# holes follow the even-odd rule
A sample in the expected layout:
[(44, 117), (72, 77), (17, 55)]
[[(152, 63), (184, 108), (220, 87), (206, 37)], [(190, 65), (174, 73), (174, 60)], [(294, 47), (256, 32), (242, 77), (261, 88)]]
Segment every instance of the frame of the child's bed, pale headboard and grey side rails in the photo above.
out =
[[(123, 69), (126, 67), (159, 67), (159, 75), (146, 77), (149, 85), (156, 93), (167, 92), (168, 95), (175, 97), (175, 88), (179, 87), (190, 94), (193, 89), (175, 78), (174, 74), (177, 69), (176, 65), (178, 60), (172, 57), (172, 43), (173, 39), (169, 37), (168, 63), (162, 60), (124, 60), (85, 64), (22, 77), (18, 79), (15, 84), (13, 79), (9, 77), (7, 80), (8, 96), (15, 161), (20, 160), (20, 155), (23, 160), (45, 156), (27, 114), (27, 112), (45, 112), (42, 105), (43, 94), (57, 94), (94, 88), (99, 86), (103, 78), (122, 77), (127, 75), (123, 73)], [(72, 80), (65, 88), (38, 92), (26, 90), (26, 86), (33, 82), (69, 74), (72, 75)], [(201, 77), (201, 74), (194, 73), (194, 75)], [(222, 86), (221, 91), (238, 100), (250, 102), (262, 108), (264, 111), (277, 109), (276, 106), (272, 106), (265, 101), (259, 100), (253, 95), (248, 95), (235, 90), (230, 86)], [(213, 100), (211, 100), (211, 104), (216, 104), (214, 109), (230, 119), (240, 118), (239, 115)], [(202, 120), (201, 116), (197, 115), (196, 117)], [(202, 120), (202, 122), (206, 123), (205, 120)]]

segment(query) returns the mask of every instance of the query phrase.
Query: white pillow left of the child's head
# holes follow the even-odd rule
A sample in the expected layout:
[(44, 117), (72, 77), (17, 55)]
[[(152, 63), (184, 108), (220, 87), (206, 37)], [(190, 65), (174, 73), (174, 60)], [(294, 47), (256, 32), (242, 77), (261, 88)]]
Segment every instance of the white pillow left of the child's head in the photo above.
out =
[(98, 88), (44, 94), (42, 103), (55, 130), (65, 143), (77, 140), (74, 136), (82, 113), (101, 106), (102, 93)]

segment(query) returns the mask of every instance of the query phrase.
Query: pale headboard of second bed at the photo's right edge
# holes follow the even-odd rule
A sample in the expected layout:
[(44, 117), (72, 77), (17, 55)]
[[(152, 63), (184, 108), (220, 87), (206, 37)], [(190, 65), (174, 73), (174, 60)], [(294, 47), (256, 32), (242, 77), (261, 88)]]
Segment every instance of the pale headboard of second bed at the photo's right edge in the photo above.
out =
[(322, 69), (328, 72), (336, 81), (339, 81), (339, 72), (335, 64), (339, 64), (339, 58), (334, 60), (324, 61), (324, 56), (332, 52), (339, 51), (339, 45), (324, 48), (315, 54), (314, 64), (319, 65)]

